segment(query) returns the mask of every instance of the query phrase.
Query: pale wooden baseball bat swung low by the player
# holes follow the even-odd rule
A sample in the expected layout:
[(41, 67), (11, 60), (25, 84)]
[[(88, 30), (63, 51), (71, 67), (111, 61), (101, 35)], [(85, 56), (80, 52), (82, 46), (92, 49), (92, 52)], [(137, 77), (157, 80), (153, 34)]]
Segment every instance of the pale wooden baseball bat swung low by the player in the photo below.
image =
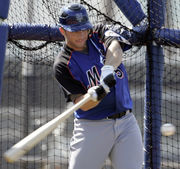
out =
[(78, 103), (61, 113), (59, 116), (55, 117), (48, 123), (44, 124), (37, 130), (33, 131), (31, 134), (26, 136), (24, 139), (20, 140), (17, 144), (12, 146), (9, 150), (4, 153), (4, 158), (6, 161), (13, 163), (32, 149), (36, 144), (48, 136), (58, 125), (66, 120), (74, 111), (79, 109), (82, 105), (87, 103), (91, 99), (91, 95), (87, 93), (85, 97)]

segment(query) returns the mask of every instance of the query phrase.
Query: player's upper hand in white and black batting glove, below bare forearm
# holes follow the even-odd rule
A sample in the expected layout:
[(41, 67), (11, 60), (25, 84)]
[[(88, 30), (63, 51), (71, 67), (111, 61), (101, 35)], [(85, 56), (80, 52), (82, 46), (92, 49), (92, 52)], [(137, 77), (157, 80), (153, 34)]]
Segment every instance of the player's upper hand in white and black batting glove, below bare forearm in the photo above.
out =
[(100, 84), (103, 86), (106, 93), (110, 92), (110, 88), (116, 84), (114, 77), (114, 67), (111, 65), (104, 65), (101, 68)]

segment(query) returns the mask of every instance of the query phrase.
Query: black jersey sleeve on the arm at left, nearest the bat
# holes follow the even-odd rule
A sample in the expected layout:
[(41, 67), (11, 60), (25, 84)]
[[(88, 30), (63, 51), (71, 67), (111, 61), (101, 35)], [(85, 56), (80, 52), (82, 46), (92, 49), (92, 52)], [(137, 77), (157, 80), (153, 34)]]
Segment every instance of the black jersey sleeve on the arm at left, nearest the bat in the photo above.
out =
[(87, 92), (83, 84), (74, 79), (67, 65), (62, 62), (60, 56), (56, 59), (53, 71), (56, 80), (62, 87), (67, 101), (73, 101), (74, 96), (85, 94)]

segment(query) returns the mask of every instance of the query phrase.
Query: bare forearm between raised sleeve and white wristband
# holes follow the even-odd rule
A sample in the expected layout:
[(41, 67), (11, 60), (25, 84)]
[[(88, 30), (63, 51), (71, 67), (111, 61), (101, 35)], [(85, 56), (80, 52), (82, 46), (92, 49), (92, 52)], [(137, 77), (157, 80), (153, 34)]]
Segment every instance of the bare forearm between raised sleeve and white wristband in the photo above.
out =
[(106, 52), (105, 65), (111, 65), (116, 69), (122, 62), (123, 51), (117, 40), (113, 40)]

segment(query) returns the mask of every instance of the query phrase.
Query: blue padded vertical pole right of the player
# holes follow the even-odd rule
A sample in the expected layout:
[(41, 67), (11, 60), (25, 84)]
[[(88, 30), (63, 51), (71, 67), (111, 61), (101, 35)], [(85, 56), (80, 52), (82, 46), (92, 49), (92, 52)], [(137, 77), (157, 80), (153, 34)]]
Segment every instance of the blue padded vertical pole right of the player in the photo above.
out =
[[(148, 0), (149, 37), (154, 29), (164, 26), (164, 2)], [(144, 116), (144, 168), (161, 168), (161, 101), (162, 75), (164, 70), (163, 48), (154, 41), (147, 44), (146, 55), (146, 98)]]

